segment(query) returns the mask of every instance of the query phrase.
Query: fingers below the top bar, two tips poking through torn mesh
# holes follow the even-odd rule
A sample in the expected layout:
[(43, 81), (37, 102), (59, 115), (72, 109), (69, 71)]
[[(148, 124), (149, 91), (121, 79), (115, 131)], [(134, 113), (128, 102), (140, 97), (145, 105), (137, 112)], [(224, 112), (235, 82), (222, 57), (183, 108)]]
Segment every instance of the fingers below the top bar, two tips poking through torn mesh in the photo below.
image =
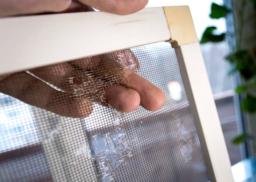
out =
[(93, 102), (121, 112), (131, 112), (139, 105), (150, 111), (160, 109), (163, 91), (139, 76), (137, 69), (135, 55), (123, 50), (32, 69), (30, 74), (0, 76), (0, 92), (74, 118), (90, 115)]

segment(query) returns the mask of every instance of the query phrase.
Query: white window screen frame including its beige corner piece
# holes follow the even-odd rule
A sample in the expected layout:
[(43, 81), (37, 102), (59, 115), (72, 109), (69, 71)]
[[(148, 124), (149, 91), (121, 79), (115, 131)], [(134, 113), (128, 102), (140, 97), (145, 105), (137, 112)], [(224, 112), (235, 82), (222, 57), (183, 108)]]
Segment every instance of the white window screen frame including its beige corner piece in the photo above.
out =
[(0, 74), (170, 41), (175, 47), (210, 180), (234, 181), (188, 6), (146, 8), (127, 16), (84, 12), (2, 18), (0, 27)]

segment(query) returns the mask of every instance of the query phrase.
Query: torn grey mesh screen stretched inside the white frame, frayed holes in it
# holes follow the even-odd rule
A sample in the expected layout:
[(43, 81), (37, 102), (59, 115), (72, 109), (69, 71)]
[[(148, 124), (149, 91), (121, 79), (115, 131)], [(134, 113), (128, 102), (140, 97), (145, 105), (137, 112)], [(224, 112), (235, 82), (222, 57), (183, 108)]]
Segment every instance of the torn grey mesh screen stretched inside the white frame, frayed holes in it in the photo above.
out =
[[(128, 83), (119, 62), (165, 92), (160, 110), (111, 107), (104, 91)], [(0, 181), (209, 181), (170, 43), (8, 75), (0, 91), (29, 103), (0, 95)]]

